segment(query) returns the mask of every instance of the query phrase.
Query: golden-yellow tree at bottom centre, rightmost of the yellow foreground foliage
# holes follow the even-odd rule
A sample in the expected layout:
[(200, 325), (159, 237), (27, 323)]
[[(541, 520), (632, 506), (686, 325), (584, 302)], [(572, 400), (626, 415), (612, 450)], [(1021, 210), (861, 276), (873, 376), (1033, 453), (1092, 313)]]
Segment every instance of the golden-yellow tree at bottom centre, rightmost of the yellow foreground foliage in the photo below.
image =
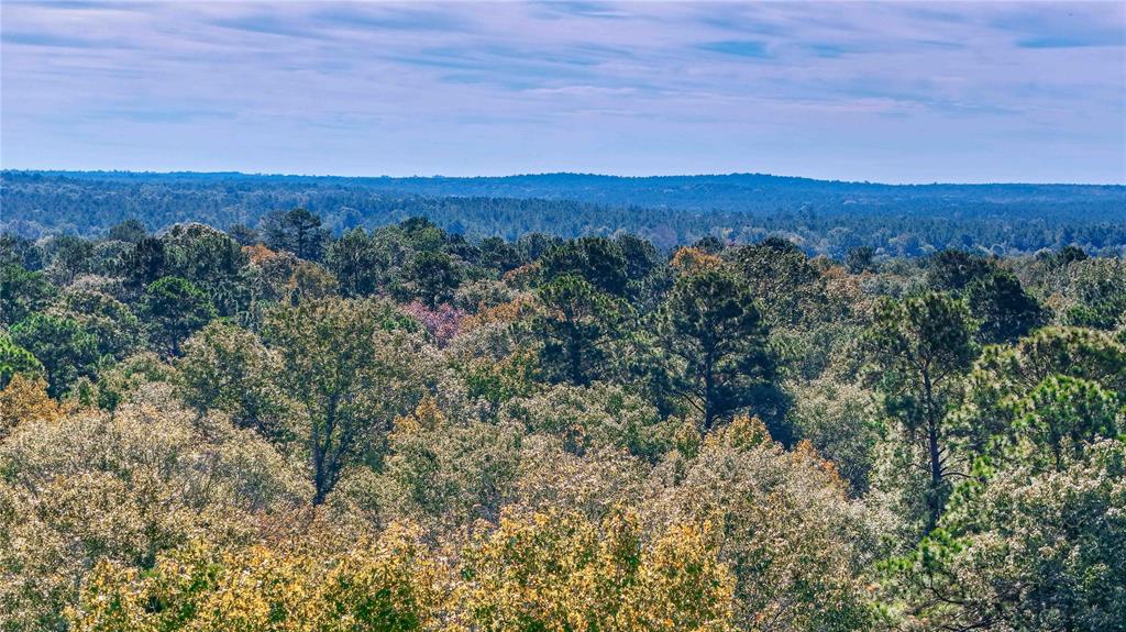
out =
[(727, 632), (733, 578), (706, 526), (644, 542), (638, 520), (570, 512), (504, 515), (464, 553), (471, 629)]

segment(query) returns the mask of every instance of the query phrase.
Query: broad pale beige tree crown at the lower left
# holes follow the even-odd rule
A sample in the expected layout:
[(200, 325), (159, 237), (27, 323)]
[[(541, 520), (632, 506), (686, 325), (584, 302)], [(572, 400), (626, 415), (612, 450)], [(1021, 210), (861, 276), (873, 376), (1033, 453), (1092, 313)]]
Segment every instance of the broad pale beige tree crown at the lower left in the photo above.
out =
[(24, 418), (0, 442), (5, 628), (66, 630), (96, 565), (135, 572), (191, 539), (257, 540), (266, 516), (292, 516), (312, 495), (253, 433), (182, 409), (167, 389), (137, 395), (111, 414)]

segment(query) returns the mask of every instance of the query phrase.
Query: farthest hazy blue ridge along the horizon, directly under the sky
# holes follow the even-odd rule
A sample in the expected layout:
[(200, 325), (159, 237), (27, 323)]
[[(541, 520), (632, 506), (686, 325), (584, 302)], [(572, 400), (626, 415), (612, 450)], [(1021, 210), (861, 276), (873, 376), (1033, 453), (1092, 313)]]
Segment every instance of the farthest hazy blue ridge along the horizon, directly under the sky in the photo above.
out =
[[(6, 172), (10, 178), (17, 172)], [(864, 210), (899, 206), (902, 211), (1008, 210), (1015, 206), (1064, 213), (1126, 214), (1126, 187), (1091, 184), (879, 184), (732, 173), (628, 178), (586, 173), (543, 173), (498, 178), (341, 178), (263, 175), (238, 172), (19, 172), (81, 181), (364, 188), (390, 193), (439, 197), (498, 197), (575, 200), (611, 206), (645, 206), (685, 210), (771, 213), (817, 205), (821, 211)], [(1090, 217), (1088, 217), (1090, 218)]]

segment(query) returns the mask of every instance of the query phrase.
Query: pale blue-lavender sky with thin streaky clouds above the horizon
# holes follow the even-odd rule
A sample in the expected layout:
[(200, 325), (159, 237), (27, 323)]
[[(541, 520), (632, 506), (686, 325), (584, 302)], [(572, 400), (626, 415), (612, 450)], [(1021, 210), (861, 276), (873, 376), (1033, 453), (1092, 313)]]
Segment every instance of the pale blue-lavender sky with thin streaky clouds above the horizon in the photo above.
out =
[(1126, 182), (1126, 2), (0, 1), (0, 166)]

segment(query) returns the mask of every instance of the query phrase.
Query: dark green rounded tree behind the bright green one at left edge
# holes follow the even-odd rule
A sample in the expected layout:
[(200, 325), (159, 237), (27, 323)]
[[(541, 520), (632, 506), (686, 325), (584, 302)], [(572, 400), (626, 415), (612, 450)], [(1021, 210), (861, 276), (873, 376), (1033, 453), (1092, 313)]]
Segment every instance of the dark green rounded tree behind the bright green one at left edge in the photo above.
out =
[(72, 318), (33, 314), (11, 328), (11, 338), (43, 363), (52, 397), (92, 374), (98, 361), (98, 338)]

